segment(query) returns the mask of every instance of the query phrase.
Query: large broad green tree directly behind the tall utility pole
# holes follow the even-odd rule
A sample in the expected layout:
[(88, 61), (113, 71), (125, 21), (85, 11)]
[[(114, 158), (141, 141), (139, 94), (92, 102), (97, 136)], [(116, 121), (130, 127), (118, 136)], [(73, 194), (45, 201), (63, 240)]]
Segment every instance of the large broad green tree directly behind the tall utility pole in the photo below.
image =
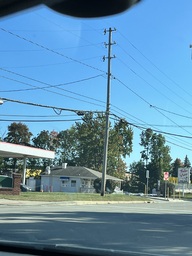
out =
[[(105, 116), (86, 114), (82, 122), (59, 133), (60, 159), (74, 165), (102, 171), (104, 152)], [(132, 151), (133, 132), (120, 120), (110, 124), (107, 173), (122, 178), (126, 171), (123, 160)]]

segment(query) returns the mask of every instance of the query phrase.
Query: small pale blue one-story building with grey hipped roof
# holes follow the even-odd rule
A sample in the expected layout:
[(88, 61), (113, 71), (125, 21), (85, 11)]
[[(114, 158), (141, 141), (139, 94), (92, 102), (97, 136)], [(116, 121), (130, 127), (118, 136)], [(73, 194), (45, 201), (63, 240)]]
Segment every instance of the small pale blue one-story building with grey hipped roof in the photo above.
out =
[[(41, 175), (41, 190), (51, 192), (94, 193), (94, 180), (101, 178), (102, 173), (86, 167), (57, 166), (51, 168), (50, 174)], [(106, 179), (119, 182), (121, 179), (106, 175)]]

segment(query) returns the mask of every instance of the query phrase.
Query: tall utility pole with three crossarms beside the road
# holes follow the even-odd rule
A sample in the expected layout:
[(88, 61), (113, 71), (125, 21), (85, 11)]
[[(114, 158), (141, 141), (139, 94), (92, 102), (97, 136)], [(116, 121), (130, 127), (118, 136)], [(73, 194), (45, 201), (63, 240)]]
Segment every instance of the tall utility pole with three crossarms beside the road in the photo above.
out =
[(102, 170), (102, 180), (101, 180), (101, 196), (105, 195), (105, 185), (106, 185), (106, 170), (107, 170), (107, 153), (108, 153), (108, 141), (109, 141), (109, 114), (110, 114), (110, 91), (111, 91), (111, 59), (115, 56), (111, 56), (111, 46), (115, 44), (112, 43), (112, 32), (116, 29), (109, 28), (109, 30), (104, 30), (104, 34), (109, 33), (108, 44), (108, 56), (103, 57), (103, 60), (108, 59), (108, 71), (107, 71), (107, 102), (106, 102), (106, 124), (105, 124), (105, 138), (104, 138), (104, 154), (103, 154), (103, 170)]

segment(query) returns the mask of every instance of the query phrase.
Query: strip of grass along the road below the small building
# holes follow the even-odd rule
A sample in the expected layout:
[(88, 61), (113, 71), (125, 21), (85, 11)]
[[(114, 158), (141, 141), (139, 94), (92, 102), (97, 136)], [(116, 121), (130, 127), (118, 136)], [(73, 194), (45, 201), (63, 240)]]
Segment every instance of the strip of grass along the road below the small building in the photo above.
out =
[(150, 201), (142, 196), (128, 196), (120, 194), (88, 194), (88, 193), (63, 193), (63, 192), (21, 192), (18, 196), (1, 195), (0, 199), (25, 200), (25, 201)]

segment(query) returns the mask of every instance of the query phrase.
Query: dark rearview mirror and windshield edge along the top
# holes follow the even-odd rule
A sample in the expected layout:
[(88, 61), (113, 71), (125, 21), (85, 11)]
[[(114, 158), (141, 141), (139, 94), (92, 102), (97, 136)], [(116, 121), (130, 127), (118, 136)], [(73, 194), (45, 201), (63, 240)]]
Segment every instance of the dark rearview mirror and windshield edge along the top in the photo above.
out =
[(138, 2), (140, 0), (0, 0), (0, 17), (39, 4), (74, 17), (102, 17), (123, 12)]

